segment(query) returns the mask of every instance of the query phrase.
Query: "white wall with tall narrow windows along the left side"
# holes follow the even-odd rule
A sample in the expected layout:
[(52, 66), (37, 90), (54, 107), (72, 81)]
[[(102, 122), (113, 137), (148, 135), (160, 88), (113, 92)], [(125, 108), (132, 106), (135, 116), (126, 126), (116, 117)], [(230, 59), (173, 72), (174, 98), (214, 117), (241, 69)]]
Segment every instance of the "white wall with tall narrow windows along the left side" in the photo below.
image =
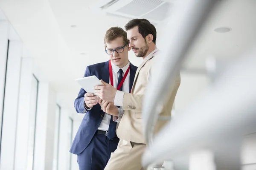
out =
[[(31, 152), (31, 146), (29, 147), (31, 139), (29, 139), (29, 136), (31, 134), (33, 136), (33, 129), (31, 131), (31, 126), (29, 125), (33, 121), (30, 115), (31, 109), (35, 108), (36, 103), (31, 96), (31, 94), (34, 94), (33, 97), (35, 97), (37, 90), (35, 78), (33, 77), (35, 75), (36, 79), (38, 79), (38, 105), (35, 124), (34, 170), (51, 170), (54, 136), (57, 135), (54, 134), (57, 91), (48, 82), (44, 72), (37, 67), (35, 57), (29, 54), (7, 20), (0, 19), (0, 37), (0, 115), (2, 115), (4, 107), (0, 169), (27, 170), (28, 161), (31, 161), (31, 158), (28, 159), (28, 148)], [(8, 40), (10, 41), (6, 72)], [(5, 76), (6, 89), (4, 91)], [(5, 101), (3, 105), (4, 92)], [(64, 103), (59, 105), (62, 109), (60, 143), (58, 146), (58, 170), (65, 170), (69, 167), (67, 161), (70, 156), (68, 152), (70, 148), (68, 120), (72, 115), (72, 111), (66, 108)]]

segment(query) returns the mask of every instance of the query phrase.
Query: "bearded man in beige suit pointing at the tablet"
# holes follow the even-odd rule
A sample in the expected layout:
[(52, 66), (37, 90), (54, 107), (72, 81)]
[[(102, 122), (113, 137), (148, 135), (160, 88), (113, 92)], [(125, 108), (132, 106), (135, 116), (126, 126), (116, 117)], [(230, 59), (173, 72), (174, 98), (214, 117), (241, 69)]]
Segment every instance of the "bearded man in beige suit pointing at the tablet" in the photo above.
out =
[[(142, 128), (143, 97), (148, 80), (151, 77), (151, 67), (157, 59), (161, 59), (156, 48), (156, 29), (145, 19), (134, 19), (126, 24), (129, 47), (143, 62), (137, 69), (131, 93), (117, 91), (108, 83), (96, 86), (96, 93), (102, 99), (102, 110), (113, 115), (113, 120), (120, 122), (117, 136), (120, 138), (115, 152), (111, 154), (105, 170), (141, 170), (141, 157), (146, 147)], [(166, 89), (168, 97), (163, 103), (160, 116), (171, 116), (172, 105), (180, 85), (180, 74), (170, 89)], [(120, 106), (124, 112), (118, 112), (115, 106)], [(120, 110), (120, 109), (119, 109)], [(115, 117), (116, 116), (116, 117)], [(158, 121), (155, 127), (157, 133), (167, 121)]]

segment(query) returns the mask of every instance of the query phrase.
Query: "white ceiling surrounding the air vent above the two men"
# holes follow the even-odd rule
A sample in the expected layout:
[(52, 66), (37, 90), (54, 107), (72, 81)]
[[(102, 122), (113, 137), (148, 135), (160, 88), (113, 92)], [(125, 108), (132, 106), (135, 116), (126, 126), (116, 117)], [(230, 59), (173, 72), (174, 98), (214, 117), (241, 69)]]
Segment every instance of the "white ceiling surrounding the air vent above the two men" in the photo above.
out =
[[(89, 10), (96, 0), (1, 0), (0, 8), (26, 45), (44, 77), (58, 92), (58, 102), (73, 109), (79, 92), (74, 79), (87, 65), (108, 60), (103, 37), (111, 26), (124, 28), (129, 19)], [(189, 51), (184, 68), (204, 69), (209, 55), (230, 60), (256, 42), (256, 0), (221, 0)], [(156, 25), (158, 40), (163, 23)], [(73, 26), (73, 27), (71, 27)], [(217, 33), (218, 27), (232, 31)], [(159, 44), (158, 48), (164, 46)], [(130, 61), (141, 59), (129, 53)]]

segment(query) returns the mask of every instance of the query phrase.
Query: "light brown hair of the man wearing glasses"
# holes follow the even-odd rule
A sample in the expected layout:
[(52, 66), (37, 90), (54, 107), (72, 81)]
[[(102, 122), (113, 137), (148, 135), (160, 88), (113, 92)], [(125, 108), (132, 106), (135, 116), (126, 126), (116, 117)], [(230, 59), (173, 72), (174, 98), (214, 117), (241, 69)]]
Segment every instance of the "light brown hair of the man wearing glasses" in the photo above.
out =
[(106, 31), (106, 34), (104, 37), (105, 47), (107, 46), (106, 43), (115, 40), (117, 37), (123, 37), (124, 45), (129, 44), (129, 41), (127, 39), (127, 33), (125, 32), (125, 30), (123, 30), (120, 27), (111, 27), (108, 29), (108, 31)]

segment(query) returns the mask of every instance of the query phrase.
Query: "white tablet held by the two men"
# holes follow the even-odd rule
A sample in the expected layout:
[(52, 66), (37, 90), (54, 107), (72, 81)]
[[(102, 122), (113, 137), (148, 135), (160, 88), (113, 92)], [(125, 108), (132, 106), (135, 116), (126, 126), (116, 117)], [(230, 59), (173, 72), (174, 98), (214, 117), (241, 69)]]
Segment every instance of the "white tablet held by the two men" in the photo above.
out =
[(95, 90), (93, 89), (96, 85), (103, 85), (102, 82), (96, 76), (89, 76), (76, 79), (76, 82), (81, 85), (81, 87), (87, 92), (95, 94)]

